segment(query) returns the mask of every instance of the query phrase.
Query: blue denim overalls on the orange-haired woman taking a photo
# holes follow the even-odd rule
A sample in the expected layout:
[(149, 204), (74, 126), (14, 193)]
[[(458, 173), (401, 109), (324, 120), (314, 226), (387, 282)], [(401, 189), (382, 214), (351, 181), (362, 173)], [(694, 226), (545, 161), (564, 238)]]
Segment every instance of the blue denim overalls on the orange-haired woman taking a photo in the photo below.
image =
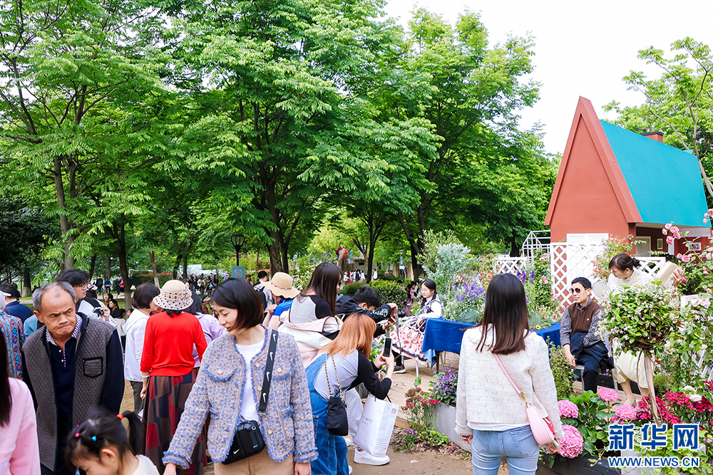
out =
[(344, 437), (332, 435), (327, 429), (327, 400), (314, 390), (314, 378), (324, 371), (324, 358), (319, 357), (307, 367), (307, 385), (309, 399), (312, 402), (312, 417), (314, 418), (314, 444), (319, 456), (309, 462), (312, 475), (347, 475), (347, 442)]

